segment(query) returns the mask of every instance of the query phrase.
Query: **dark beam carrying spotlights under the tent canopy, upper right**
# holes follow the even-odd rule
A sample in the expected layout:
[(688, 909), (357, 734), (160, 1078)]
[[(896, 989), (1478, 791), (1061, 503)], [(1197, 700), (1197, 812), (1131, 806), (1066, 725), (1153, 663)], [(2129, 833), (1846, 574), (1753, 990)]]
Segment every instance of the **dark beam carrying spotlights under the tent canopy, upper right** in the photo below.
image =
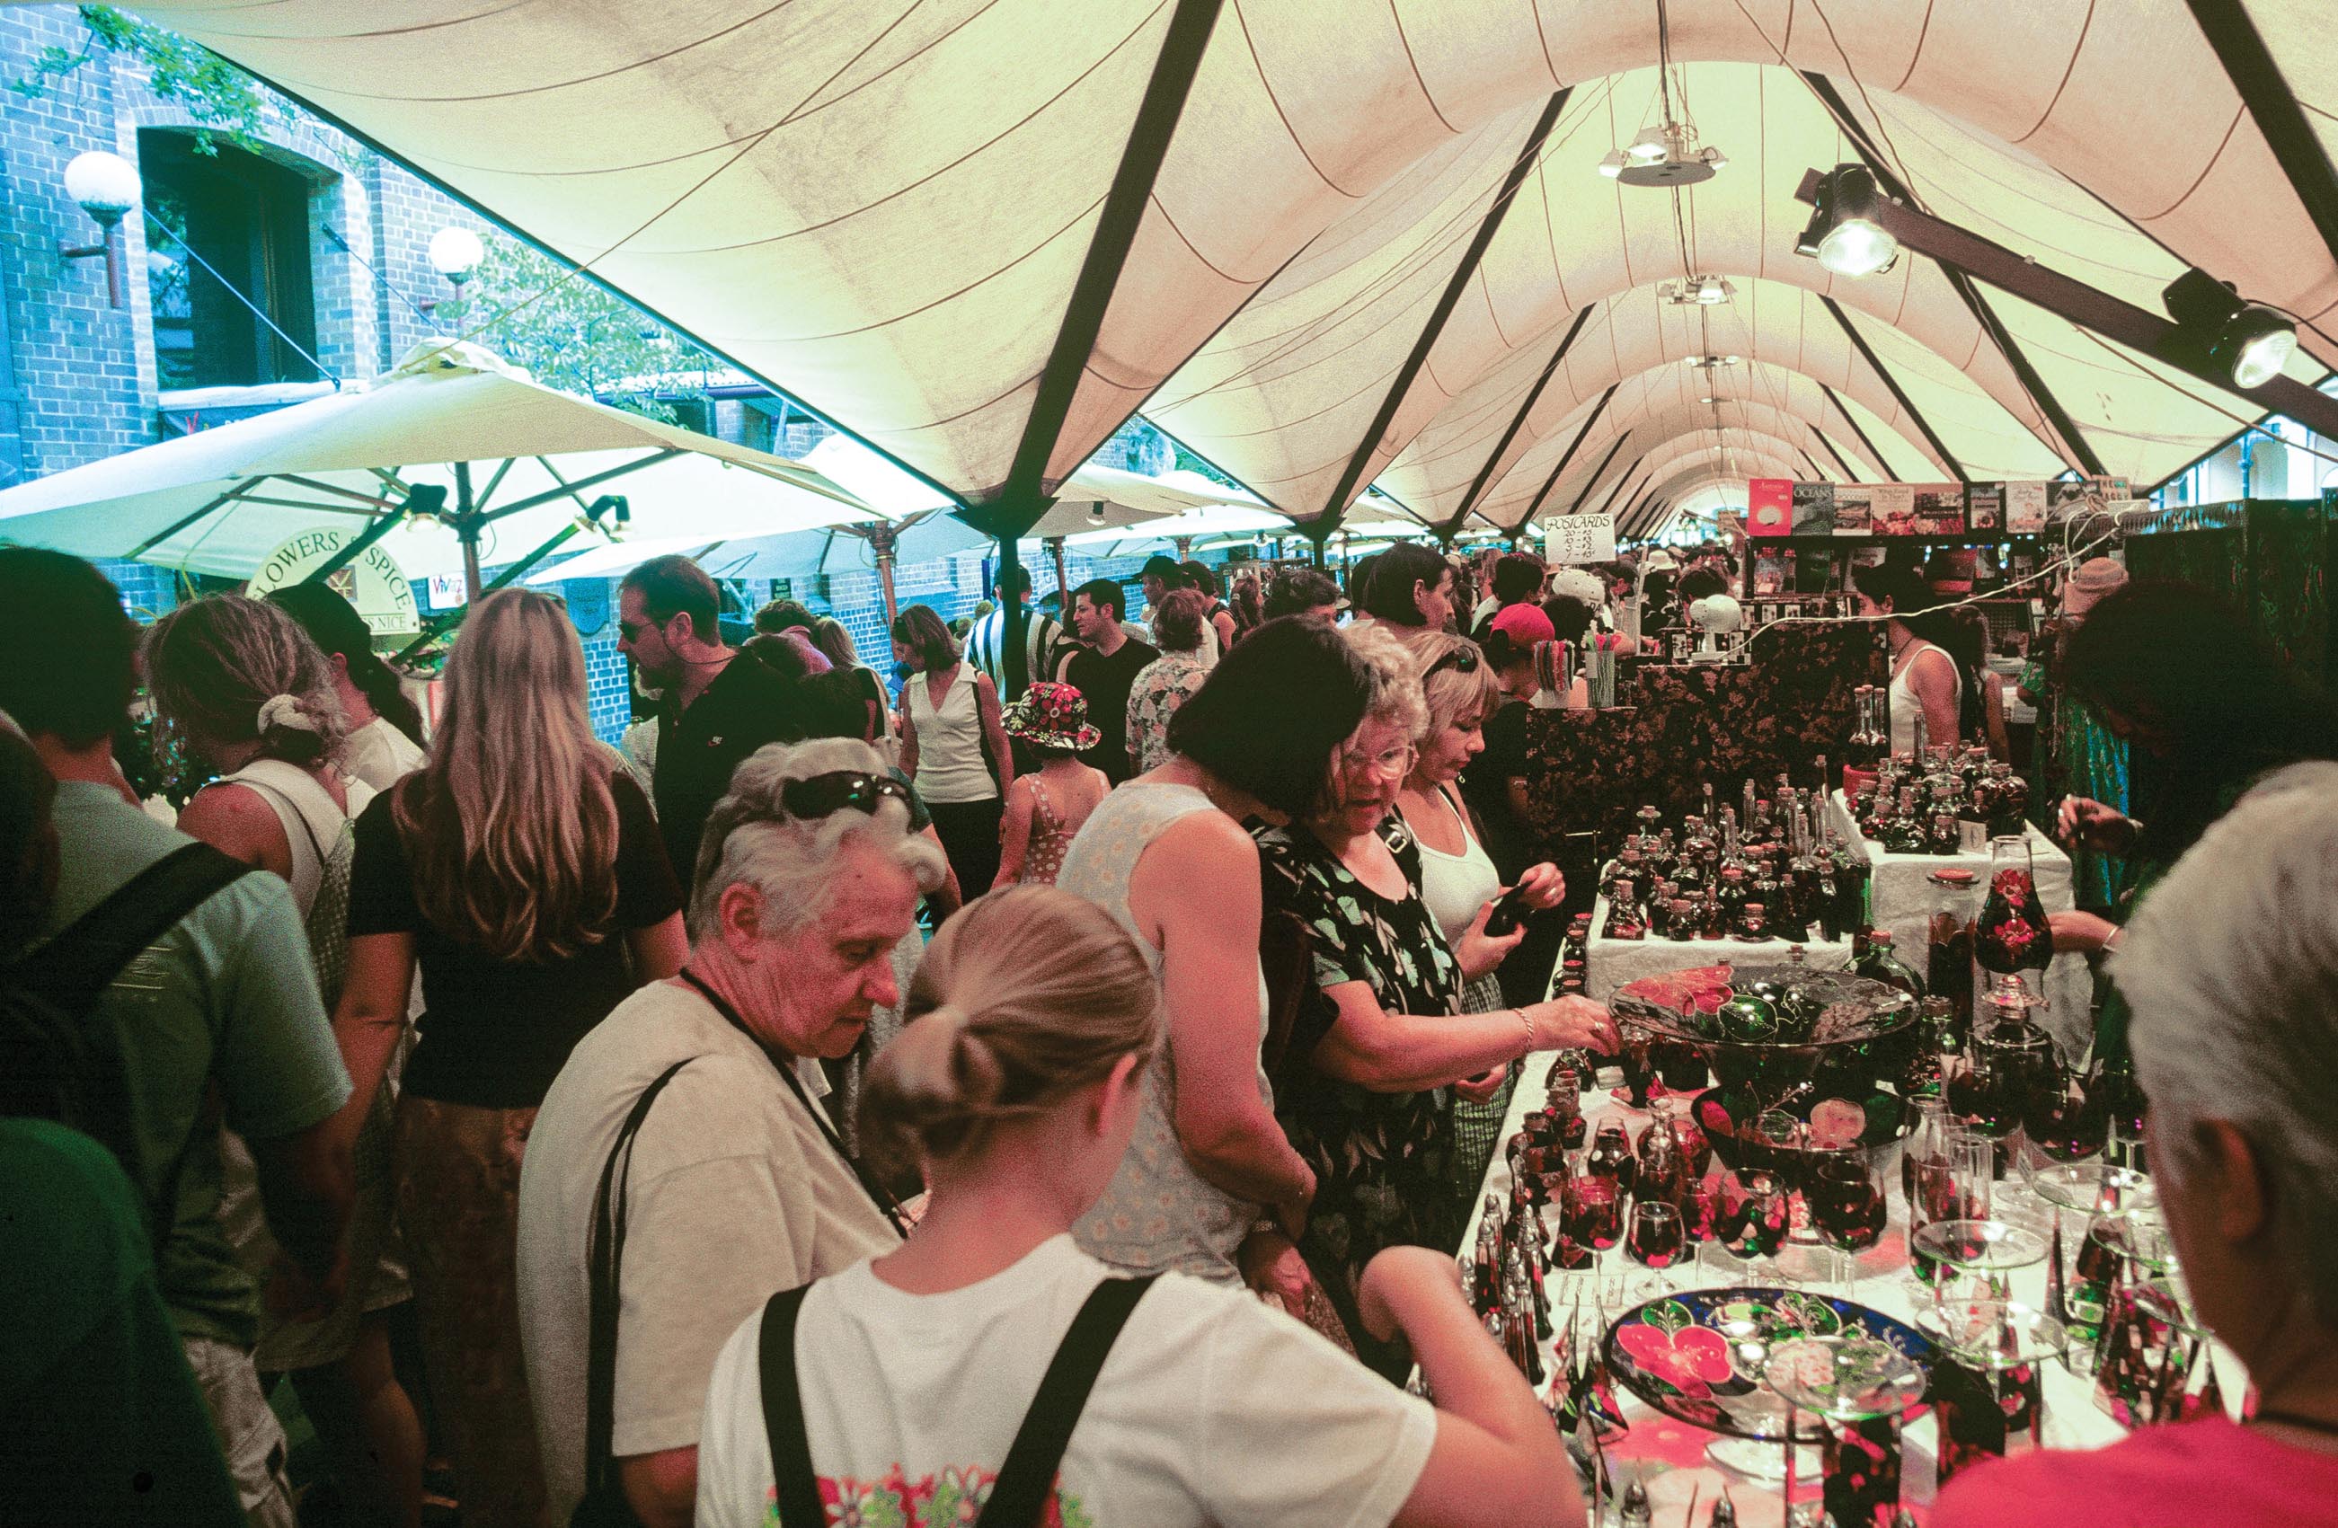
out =
[[(1807, 171), (1803, 185), (1796, 189), (1796, 199), (1805, 203), (1814, 201), (1821, 180), (1819, 171)], [(2121, 301), (2109, 292), (2097, 292), (2083, 280), (2071, 280), (2034, 259), (2025, 259), (2001, 243), (1990, 243), (1980, 234), (1896, 201), (1877, 199), (1875, 224), (1917, 255), (1957, 266), (1971, 273), (1973, 280), (1987, 283), (1999, 292), (2013, 292), (2022, 301), (2067, 318), (2081, 329), (2116, 339), (2130, 350), (2142, 350), (2151, 360), (2205, 381), (2212, 388), (2247, 397), (2268, 414), (2287, 414), (2317, 435), (2338, 437), (2338, 397), (2308, 388), (2287, 374), (2277, 374), (2256, 388), (2240, 388), (2230, 376), (2207, 364), (2198, 336), (2186, 334), (2174, 320)]]

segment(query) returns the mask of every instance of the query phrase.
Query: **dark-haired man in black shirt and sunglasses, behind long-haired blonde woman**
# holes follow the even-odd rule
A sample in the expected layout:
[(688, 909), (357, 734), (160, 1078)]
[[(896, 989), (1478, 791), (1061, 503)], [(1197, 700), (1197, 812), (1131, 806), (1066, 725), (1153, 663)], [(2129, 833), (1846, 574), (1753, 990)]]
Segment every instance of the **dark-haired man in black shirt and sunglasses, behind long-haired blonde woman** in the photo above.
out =
[(687, 556), (655, 556), (617, 586), (617, 652), (664, 692), (657, 701), (657, 832), (687, 890), (697, 878), (706, 813), (732, 771), (765, 743), (800, 736), (795, 699), (769, 664), (722, 645), (722, 596)]

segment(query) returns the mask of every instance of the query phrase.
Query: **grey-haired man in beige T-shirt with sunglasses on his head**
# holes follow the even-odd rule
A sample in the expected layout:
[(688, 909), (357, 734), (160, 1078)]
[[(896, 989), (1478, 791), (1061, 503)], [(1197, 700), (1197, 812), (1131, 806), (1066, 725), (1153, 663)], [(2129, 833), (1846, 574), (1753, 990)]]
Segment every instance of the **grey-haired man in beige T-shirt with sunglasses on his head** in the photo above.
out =
[(818, 1061), (900, 1002), (893, 946), (942, 874), (865, 743), (772, 745), (732, 776), (690, 963), (575, 1047), (528, 1138), (519, 1322), (554, 1521), (594, 1491), (687, 1523), (722, 1339), (774, 1290), (895, 1245)]

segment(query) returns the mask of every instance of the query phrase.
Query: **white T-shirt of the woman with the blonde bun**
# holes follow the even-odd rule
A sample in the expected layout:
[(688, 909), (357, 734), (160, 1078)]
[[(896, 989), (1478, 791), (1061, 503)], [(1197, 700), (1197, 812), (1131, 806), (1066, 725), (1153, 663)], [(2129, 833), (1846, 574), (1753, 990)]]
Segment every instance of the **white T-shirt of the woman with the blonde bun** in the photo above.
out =
[[(947, 1294), (870, 1264), (821, 1280), (795, 1329), (828, 1521), (959, 1523), (1005, 1463), (1071, 1318), (1111, 1273), (1071, 1236)], [(699, 1430), (699, 1528), (765, 1528), (760, 1313), (722, 1346)], [(1164, 1273), (1136, 1304), (1064, 1451), (1066, 1528), (1384, 1528), (1436, 1411), (1256, 1297)]]

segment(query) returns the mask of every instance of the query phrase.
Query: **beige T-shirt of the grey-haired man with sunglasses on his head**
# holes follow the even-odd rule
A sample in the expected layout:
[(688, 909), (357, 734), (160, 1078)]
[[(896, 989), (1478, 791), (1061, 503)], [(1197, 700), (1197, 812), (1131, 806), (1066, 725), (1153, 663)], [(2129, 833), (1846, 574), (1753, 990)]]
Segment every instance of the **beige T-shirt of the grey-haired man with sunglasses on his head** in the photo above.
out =
[(584, 1252), (601, 1168), (641, 1089), (683, 1058), (627, 1173), (617, 1458), (699, 1442), (715, 1350), (774, 1290), (900, 1245), (765, 1051), (706, 998), (655, 981), (610, 1009), (545, 1093), (519, 1173), (519, 1341), (556, 1523), (584, 1493)]

